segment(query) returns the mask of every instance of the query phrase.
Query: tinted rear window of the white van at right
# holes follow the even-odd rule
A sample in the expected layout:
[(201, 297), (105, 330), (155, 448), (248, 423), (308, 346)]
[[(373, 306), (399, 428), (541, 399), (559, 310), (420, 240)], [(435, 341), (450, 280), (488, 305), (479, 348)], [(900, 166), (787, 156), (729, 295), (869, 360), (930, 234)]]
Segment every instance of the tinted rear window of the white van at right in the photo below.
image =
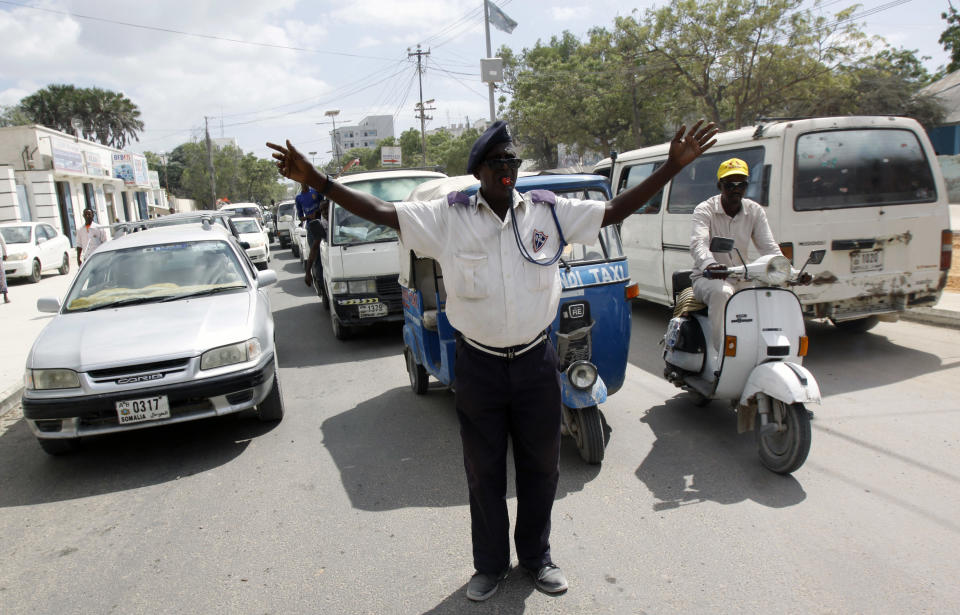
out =
[(932, 203), (933, 172), (909, 130), (831, 130), (797, 139), (796, 211)]

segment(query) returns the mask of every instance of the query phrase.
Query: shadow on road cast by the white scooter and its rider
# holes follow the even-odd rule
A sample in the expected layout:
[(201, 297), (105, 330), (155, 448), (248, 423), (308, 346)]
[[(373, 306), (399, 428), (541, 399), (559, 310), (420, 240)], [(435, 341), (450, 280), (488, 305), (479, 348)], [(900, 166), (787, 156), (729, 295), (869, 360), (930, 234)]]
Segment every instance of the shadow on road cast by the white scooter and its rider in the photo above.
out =
[(722, 402), (697, 407), (685, 393), (641, 419), (656, 436), (636, 475), (662, 511), (700, 502), (752, 500), (771, 508), (806, 499), (800, 483), (760, 464), (753, 433), (737, 433), (737, 416)]

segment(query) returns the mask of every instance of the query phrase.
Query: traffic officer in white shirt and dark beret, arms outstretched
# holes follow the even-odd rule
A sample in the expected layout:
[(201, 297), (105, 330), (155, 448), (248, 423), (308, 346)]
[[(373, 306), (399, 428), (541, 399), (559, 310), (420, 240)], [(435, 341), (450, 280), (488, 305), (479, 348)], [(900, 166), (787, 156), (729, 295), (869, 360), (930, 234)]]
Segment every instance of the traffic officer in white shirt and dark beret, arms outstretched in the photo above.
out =
[[(446, 311), (458, 331), (456, 406), (470, 492), (473, 564), (467, 598), (486, 600), (510, 570), (507, 442), (513, 441), (520, 565), (538, 589), (567, 590), (550, 554), (550, 513), (560, 461), (560, 372), (546, 328), (557, 313), (560, 276), (553, 256), (565, 242), (593, 244), (601, 226), (622, 221), (714, 141), (713, 124), (677, 131), (670, 155), (639, 186), (608, 202), (514, 189), (521, 160), (504, 122), (470, 151), (473, 196), (387, 203), (319, 172), (287, 141), (276, 150), (280, 173), (371, 222), (399, 229), (404, 246), (440, 262)], [(516, 227), (516, 233), (514, 232)], [(519, 245), (518, 245), (519, 244)]]

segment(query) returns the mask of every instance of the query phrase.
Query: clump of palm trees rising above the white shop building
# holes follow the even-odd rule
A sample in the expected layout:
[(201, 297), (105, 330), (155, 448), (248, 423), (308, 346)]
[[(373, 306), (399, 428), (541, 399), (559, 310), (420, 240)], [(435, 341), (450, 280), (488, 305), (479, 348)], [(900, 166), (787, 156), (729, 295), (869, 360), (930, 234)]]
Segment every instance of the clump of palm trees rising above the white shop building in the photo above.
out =
[(73, 134), (73, 120), (82, 122), (80, 136), (123, 149), (143, 130), (140, 109), (119, 92), (54, 84), (20, 101), (32, 122)]

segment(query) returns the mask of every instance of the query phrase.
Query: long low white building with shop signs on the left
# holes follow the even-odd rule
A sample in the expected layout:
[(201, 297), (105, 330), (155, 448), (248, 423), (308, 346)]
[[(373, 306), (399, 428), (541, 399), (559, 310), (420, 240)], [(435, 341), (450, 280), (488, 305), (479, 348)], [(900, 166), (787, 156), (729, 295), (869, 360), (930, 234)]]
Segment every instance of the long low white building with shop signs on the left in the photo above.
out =
[(0, 222), (47, 222), (76, 240), (84, 209), (104, 226), (169, 211), (140, 154), (45, 126), (0, 128)]

